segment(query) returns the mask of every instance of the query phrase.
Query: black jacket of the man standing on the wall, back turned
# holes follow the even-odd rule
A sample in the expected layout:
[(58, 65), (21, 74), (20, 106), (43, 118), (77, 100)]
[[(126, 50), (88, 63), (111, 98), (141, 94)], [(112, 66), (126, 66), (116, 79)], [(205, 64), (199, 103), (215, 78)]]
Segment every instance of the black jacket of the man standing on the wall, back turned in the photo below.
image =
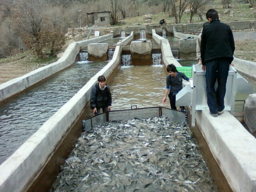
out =
[(202, 64), (212, 59), (228, 57), (230, 64), (234, 59), (235, 43), (232, 30), (220, 20), (212, 20), (204, 27), (201, 40)]

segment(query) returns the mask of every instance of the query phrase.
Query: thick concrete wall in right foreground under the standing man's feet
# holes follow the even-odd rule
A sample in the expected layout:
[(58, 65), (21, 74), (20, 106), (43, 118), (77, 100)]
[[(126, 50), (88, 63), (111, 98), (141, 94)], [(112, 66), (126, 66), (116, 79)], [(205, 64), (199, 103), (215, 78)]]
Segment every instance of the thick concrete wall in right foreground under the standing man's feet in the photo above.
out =
[(256, 138), (228, 112), (196, 111), (196, 123), (234, 192), (256, 192)]

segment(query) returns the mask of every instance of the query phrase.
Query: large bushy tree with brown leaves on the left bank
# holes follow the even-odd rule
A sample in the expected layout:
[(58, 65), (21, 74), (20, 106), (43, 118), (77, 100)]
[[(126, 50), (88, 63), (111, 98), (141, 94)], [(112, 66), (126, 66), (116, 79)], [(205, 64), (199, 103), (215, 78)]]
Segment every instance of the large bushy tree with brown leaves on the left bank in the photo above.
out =
[[(64, 34), (50, 16), (44, 0), (19, 0), (13, 15), (13, 28), (20, 34), (26, 46), (39, 58), (53, 55), (65, 43)], [(56, 38), (58, 34), (58, 38)], [(59, 40), (59, 42), (56, 42)]]

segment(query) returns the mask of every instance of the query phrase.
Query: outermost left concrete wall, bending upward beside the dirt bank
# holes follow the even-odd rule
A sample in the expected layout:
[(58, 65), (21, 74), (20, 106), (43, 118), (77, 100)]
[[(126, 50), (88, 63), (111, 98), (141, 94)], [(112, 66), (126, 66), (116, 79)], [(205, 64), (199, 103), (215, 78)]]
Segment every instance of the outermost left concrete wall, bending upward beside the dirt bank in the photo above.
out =
[(76, 56), (80, 51), (80, 47), (88, 46), (90, 43), (102, 42), (111, 38), (113, 38), (113, 34), (72, 43), (68, 46), (58, 61), (38, 68), (28, 74), (25, 74), (24, 76), (0, 84), (0, 102), (72, 65), (76, 60)]

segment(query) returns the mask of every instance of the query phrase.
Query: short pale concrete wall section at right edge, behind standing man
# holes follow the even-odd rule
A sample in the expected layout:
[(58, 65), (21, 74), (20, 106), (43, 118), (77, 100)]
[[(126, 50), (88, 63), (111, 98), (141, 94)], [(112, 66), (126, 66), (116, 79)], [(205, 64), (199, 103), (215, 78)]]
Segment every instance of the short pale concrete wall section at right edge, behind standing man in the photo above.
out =
[(256, 78), (256, 62), (234, 58), (232, 64), (236, 70)]

